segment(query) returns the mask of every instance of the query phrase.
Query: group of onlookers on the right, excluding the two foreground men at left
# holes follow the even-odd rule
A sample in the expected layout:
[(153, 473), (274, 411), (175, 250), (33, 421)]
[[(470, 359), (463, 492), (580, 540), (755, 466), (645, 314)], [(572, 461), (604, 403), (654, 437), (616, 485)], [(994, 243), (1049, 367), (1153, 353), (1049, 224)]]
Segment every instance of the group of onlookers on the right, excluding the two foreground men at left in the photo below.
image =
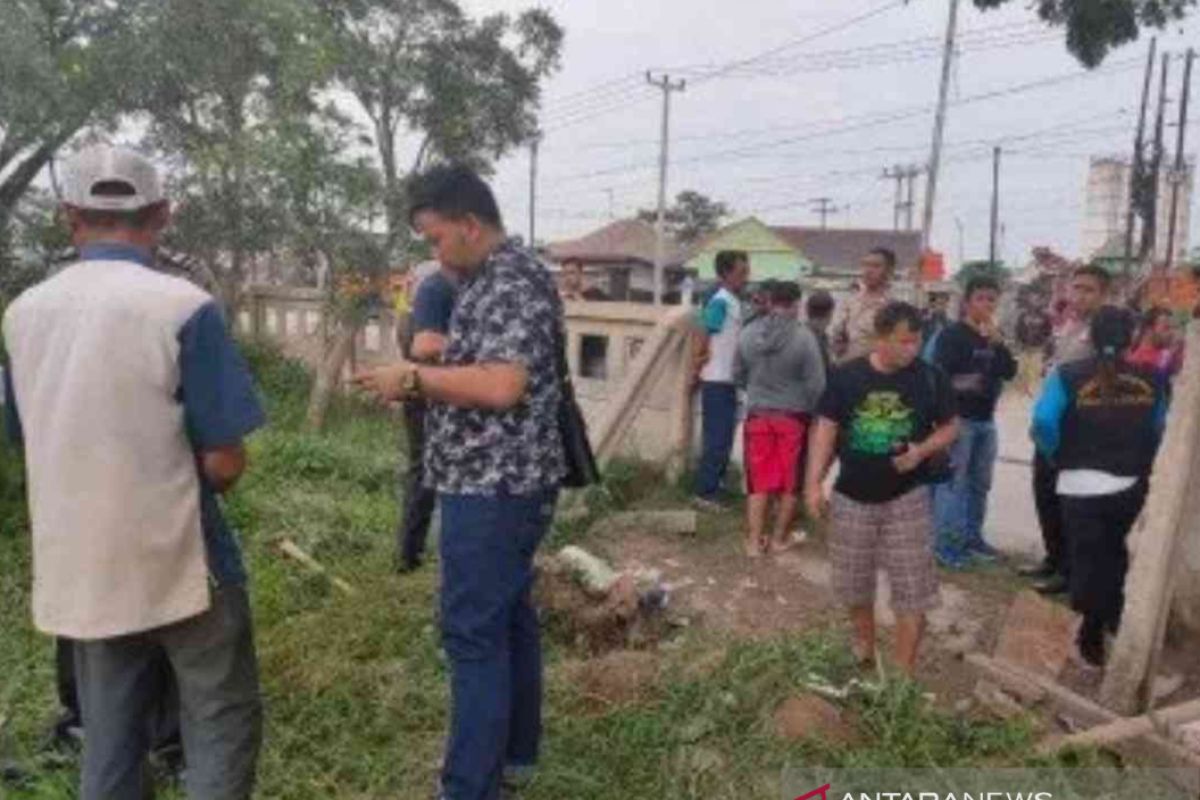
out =
[[(697, 320), (703, 434), (694, 503), (728, 509), (725, 474), (740, 420), (745, 554), (803, 541), (794, 531), (803, 494), (809, 528), (827, 528), (834, 594), (848, 609), (856, 652), (864, 663), (876, 658), (876, 573), (884, 570), (894, 661), (911, 674), (924, 612), (937, 602), (937, 565), (965, 570), (1001, 558), (984, 524), (997, 405), (1019, 371), (996, 318), (1004, 288), (974, 277), (956, 319), (944, 294), (919, 311), (894, 297), (895, 255), (878, 248), (863, 257), (856, 294), (834, 308), (827, 293), (814, 293), (802, 320), (793, 282), (761, 282), (743, 302), (745, 253), (719, 253), (715, 271), (719, 287)], [(1109, 305), (1110, 291), (1102, 267), (1075, 269), (1048, 343), (1030, 423), (1031, 500), (1045, 558), (1020, 570), (1038, 591), (1069, 595), (1085, 620), (1079, 658), (1092, 667), (1104, 664), (1104, 636), (1120, 620), (1124, 539), (1145, 501), (1182, 365), (1171, 315), (1153, 308), (1139, 319)]]

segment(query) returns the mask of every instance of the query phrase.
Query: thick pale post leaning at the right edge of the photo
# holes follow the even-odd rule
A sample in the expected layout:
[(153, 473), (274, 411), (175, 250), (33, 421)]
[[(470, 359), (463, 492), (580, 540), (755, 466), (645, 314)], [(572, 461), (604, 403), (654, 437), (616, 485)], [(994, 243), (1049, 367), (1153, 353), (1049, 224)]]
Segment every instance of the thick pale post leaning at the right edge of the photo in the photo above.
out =
[(1154, 461), (1146, 509), (1130, 539), (1121, 630), (1100, 687), (1104, 705), (1122, 714), (1148, 704), (1152, 668), (1162, 648), (1177, 569), (1183, 510), (1200, 453), (1200, 326), (1188, 329), (1183, 371)]

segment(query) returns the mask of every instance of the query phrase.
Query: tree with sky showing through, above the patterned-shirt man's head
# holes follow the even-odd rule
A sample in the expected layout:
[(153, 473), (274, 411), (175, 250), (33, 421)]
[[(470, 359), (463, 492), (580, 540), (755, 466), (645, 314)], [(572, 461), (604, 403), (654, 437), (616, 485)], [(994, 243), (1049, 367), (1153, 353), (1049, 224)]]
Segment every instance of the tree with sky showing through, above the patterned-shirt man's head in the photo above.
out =
[[(528, 142), (563, 30), (545, 11), (468, 18), (455, 0), (325, 0), (337, 79), (371, 120), (383, 173), (386, 253), (408, 240), (404, 181), (437, 161), (490, 172)], [(412, 154), (407, 167), (402, 154)]]

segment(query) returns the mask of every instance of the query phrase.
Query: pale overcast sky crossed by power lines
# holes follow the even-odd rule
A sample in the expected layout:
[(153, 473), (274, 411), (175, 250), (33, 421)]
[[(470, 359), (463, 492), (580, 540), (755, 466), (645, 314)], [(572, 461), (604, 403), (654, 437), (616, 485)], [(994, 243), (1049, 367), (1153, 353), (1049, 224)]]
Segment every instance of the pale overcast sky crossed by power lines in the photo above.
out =
[[(829, 227), (890, 229), (895, 182), (884, 168), (929, 160), (949, 0), (462, 2), (474, 14), (540, 5), (566, 31), (541, 109), (539, 241), (654, 207), (662, 94), (647, 70), (686, 80), (671, 96), (668, 197), (702, 192), (733, 219), (815, 225), (812, 200), (828, 197), (839, 207)], [(1034, 246), (1080, 255), (1088, 160), (1133, 149), (1148, 36), (1088, 72), (1028, 5), (961, 6), (932, 227), (950, 264), (960, 252), (988, 255), (994, 146), (1003, 151), (1001, 257), (1014, 265)], [(1200, 17), (1160, 34), (1159, 52), (1198, 41)], [(1180, 59), (1172, 97), (1182, 72)], [(1172, 154), (1175, 133), (1172, 122)], [(1196, 143), (1200, 130), (1190, 134)], [(494, 187), (509, 228), (527, 235), (528, 150), (499, 162)], [(1193, 246), (1196, 222), (1193, 213)]]

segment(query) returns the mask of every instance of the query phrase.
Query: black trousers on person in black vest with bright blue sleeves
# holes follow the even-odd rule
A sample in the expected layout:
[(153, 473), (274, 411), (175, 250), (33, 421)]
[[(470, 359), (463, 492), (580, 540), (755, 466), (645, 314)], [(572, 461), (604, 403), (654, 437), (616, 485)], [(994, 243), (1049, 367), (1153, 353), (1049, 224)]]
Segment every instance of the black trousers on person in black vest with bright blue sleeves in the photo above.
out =
[(1147, 482), (1139, 481), (1118, 494), (1062, 498), (1070, 530), (1070, 604), (1084, 615), (1081, 638), (1099, 642), (1121, 624), (1129, 570), (1126, 539), (1146, 504), (1146, 489)]

